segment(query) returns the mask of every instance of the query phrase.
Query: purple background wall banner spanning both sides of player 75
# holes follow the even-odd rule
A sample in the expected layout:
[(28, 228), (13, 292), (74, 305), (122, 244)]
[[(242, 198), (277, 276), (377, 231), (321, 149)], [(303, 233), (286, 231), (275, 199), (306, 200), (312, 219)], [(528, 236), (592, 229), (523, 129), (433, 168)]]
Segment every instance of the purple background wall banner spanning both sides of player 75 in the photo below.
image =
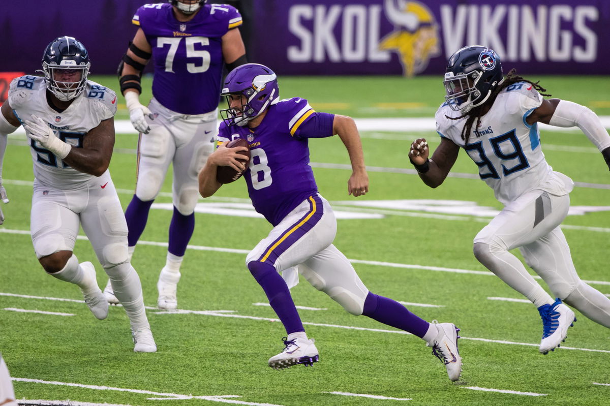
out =
[[(45, 46), (71, 35), (87, 47), (91, 73), (113, 74), (137, 30), (132, 15), (154, 2), (163, 1), (4, 1), (0, 72), (34, 73)], [(610, 74), (609, 0), (208, 2), (240, 9), (248, 60), (279, 74), (441, 74), (466, 45), (492, 48), (505, 72)]]

